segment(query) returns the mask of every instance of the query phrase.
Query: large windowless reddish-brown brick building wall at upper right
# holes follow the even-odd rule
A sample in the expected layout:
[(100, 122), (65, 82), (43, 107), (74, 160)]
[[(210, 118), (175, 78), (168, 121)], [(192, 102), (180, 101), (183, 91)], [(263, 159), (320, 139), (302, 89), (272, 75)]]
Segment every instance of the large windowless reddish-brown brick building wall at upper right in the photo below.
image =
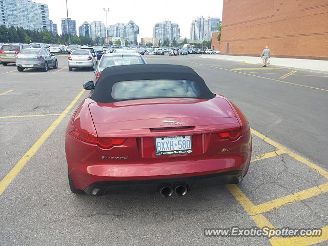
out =
[(221, 42), (226, 54), (328, 59), (328, 0), (223, 0)]

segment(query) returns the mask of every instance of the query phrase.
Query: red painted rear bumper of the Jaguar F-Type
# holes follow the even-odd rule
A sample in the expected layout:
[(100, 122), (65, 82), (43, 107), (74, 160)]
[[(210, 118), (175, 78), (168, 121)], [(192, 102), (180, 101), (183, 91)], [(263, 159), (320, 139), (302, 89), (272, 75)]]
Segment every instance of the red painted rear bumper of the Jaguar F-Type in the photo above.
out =
[[(132, 141), (132, 140), (131, 140)], [(90, 146), (66, 135), (66, 158), (74, 185), (85, 190), (92, 183), (105, 181), (142, 181), (160, 179), (183, 179), (202, 175), (219, 175), (220, 173), (248, 171), (252, 140), (250, 131), (240, 138), (243, 143), (239, 153), (231, 153), (199, 159), (197, 157), (177, 157), (170, 159), (142, 159), (142, 162), (121, 159), (102, 158), (106, 151), (97, 153), (90, 151)], [(123, 151), (123, 150), (122, 150)], [(124, 153), (126, 153), (125, 150)], [(123, 153), (118, 154), (121, 156)], [(126, 153), (129, 155), (132, 153)]]

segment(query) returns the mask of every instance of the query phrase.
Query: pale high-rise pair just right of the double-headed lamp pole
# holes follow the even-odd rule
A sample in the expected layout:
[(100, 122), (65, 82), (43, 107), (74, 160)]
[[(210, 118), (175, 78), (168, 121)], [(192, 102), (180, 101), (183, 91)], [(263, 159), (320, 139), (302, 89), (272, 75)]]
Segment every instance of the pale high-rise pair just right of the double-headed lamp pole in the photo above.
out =
[(108, 27), (109, 37), (121, 37), (126, 38), (129, 42), (137, 42), (139, 34), (139, 26), (132, 20), (128, 24), (117, 23)]

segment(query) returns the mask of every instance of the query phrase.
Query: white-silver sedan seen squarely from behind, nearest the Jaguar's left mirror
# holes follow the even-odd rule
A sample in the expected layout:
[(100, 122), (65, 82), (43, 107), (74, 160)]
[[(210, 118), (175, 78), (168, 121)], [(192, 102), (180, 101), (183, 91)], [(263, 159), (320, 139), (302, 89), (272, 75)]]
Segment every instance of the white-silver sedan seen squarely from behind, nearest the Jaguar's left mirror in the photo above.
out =
[(67, 58), (68, 70), (73, 71), (73, 68), (92, 68), (97, 65), (95, 57), (90, 50), (80, 49), (73, 50)]

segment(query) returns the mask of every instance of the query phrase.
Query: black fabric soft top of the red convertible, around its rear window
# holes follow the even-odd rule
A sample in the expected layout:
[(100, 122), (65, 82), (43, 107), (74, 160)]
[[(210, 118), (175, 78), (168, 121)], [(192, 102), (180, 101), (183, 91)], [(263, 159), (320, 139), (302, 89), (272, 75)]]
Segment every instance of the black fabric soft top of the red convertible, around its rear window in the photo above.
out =
[[(91, 99), (99, 103), (121, 101), (112, 97), (112, 87), (120, 81), (180, 79), (194, 81), (200, 90), (200, 99), (212, 99), (215, 95), (205, 84), (205, 81), (188, 66), (170, 64), (136, 64), (107, 67), (101, 72)], [(155, 98), (155, 97), (154, 97)], [(140, 98), (137, 98), (140, 99)]]

